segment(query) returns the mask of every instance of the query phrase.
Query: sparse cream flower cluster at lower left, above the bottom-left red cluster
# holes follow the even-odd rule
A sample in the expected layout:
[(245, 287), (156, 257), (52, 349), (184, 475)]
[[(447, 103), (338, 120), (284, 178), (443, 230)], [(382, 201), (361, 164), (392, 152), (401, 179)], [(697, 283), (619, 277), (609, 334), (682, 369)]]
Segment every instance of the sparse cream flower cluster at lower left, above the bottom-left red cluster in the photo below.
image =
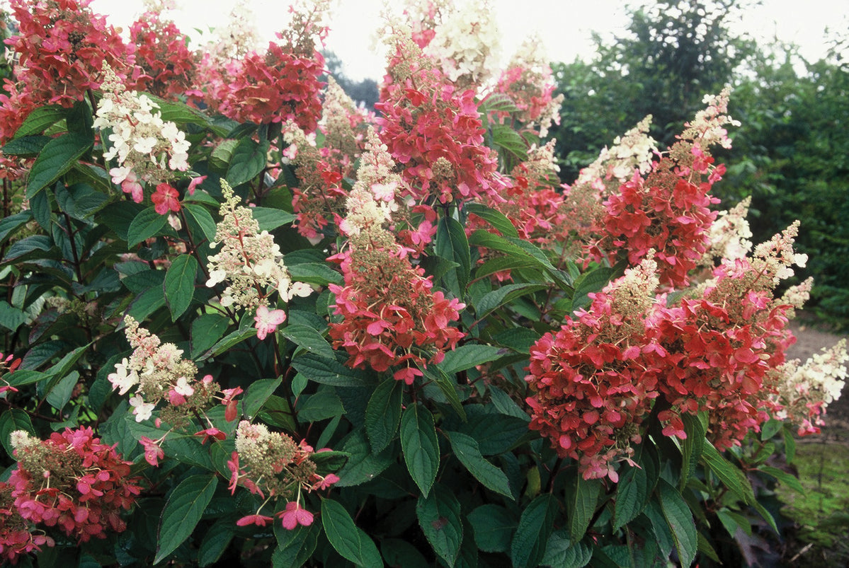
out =
[(115, 364), (115, 372), (106, 378), (113, 390), (124, 395), (133, 391), (130, 398), (132, 414), (136, 421), (148, 420), (163, 398), (173, 393), (188, 398), (194, 394), (194, 377), (198, 368), (194, 362), (183, 359), (183, 350), (173, 343), (162, 343), (160, 338), (139, 327), (132, 316), (124, 318), (125, 333), (132, 355)]

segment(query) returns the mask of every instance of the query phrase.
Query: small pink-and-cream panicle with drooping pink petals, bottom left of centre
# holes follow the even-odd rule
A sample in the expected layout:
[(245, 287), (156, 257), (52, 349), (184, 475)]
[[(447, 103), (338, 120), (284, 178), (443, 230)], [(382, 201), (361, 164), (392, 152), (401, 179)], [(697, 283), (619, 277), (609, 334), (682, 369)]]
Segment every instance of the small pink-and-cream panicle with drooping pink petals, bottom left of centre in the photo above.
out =
[[(242, 420), (236, 429), (236, 451), (228, 460), (232, 473), (230, 491), (234, 493), (242, 486), (266, 502), (283, 498), (287, 501), (286, 507), (275, 516), (282, 519), (284, 528), (293, 530), (298, 525), (309, 526), (312, 513), (301, 506), (301, 493), (327, 489), (339, 481), (332, 473), (319, 474), (312, 454), (313, 449), (304, 442), (296, 444), (286, 434), (269, 432), (262, 424)], [(237, 524), (265, 526), (271, 520), (256, 511), (254, 515), (239, 519)]]

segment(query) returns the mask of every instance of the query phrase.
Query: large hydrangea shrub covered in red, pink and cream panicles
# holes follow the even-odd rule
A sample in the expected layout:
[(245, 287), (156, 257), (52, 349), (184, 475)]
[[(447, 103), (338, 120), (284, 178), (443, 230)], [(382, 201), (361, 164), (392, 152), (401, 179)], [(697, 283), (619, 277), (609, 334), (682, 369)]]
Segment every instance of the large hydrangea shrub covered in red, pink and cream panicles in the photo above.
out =
[[(717, 210), (725, 90), (571, 185), (486, 2), (388, 16), (377, 114), (324, 0), (193, 50), (149, 5), (12, 0), (0, 557), (711, 565), (765, 538), (844, 345), (786, 359), (799, 227)], [(748, 544), (747, 544), (748, 545)]]

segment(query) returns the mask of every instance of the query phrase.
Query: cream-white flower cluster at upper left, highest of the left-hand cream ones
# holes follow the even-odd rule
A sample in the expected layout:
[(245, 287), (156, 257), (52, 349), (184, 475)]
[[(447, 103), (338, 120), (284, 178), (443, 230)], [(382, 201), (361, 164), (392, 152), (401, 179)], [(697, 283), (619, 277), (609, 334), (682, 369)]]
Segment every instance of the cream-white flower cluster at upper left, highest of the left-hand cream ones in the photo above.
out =
[[(173, 171), (188, 170), (189, 142), (186, 135), (162, 115), (145, 94), (127, 91), (108, 64), (104, 64), (104, 97), (98, 104), (94, 126), (110, 129), (111, 148), (105, 159), (116, 159), (118, 166), (110, 170), (112, 181), (143, 180), (149, 183), (170, 181)], [(141, 201), (141, 187), (133, 198)]]

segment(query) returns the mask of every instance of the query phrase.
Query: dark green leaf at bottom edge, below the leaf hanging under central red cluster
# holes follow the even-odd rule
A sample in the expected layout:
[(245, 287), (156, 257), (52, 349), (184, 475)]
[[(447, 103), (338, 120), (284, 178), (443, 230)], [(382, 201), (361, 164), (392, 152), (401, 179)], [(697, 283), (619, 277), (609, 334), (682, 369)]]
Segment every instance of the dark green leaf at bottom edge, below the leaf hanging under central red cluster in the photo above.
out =
[(445, 560), (447, 565), (453, 566), (460, 553), (460, 544), (463, 543), (460, 503), (454, 493), (437, 483), (430, 495), (419, 497), (416, 516), (419, 517), (419, 526), (434, 552)]

